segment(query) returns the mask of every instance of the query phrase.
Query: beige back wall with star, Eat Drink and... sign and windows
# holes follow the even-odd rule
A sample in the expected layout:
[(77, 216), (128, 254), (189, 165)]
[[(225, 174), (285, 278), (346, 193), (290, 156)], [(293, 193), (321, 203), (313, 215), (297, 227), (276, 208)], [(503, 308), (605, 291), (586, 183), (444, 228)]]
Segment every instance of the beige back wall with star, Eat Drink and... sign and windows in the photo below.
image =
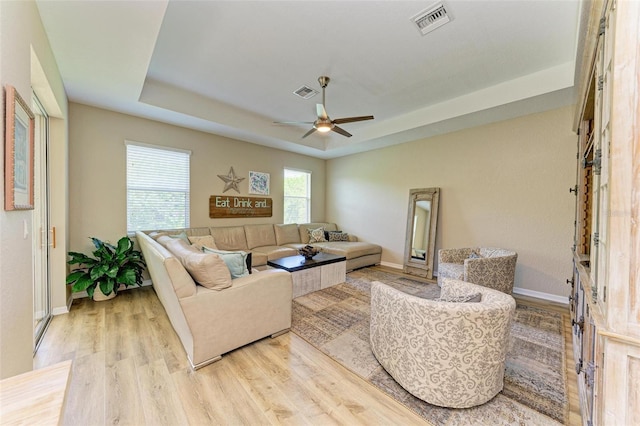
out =
[[(283, 169), (312, 172), (312, 220), (324, 220), (325, 161), (86, 105), (70, 105), (70, 247), (88, 252), (88, 237), (115, 242), (126, 229), (125, 140), (188, 149), (191, 155), (191, 226), (282, 223)], [(244, 177), (224, 195), (249, 195), (249, 171), (270, 174), (273, 217), (210, 219), (209, 197), (221, 195), (229, 168)]]

